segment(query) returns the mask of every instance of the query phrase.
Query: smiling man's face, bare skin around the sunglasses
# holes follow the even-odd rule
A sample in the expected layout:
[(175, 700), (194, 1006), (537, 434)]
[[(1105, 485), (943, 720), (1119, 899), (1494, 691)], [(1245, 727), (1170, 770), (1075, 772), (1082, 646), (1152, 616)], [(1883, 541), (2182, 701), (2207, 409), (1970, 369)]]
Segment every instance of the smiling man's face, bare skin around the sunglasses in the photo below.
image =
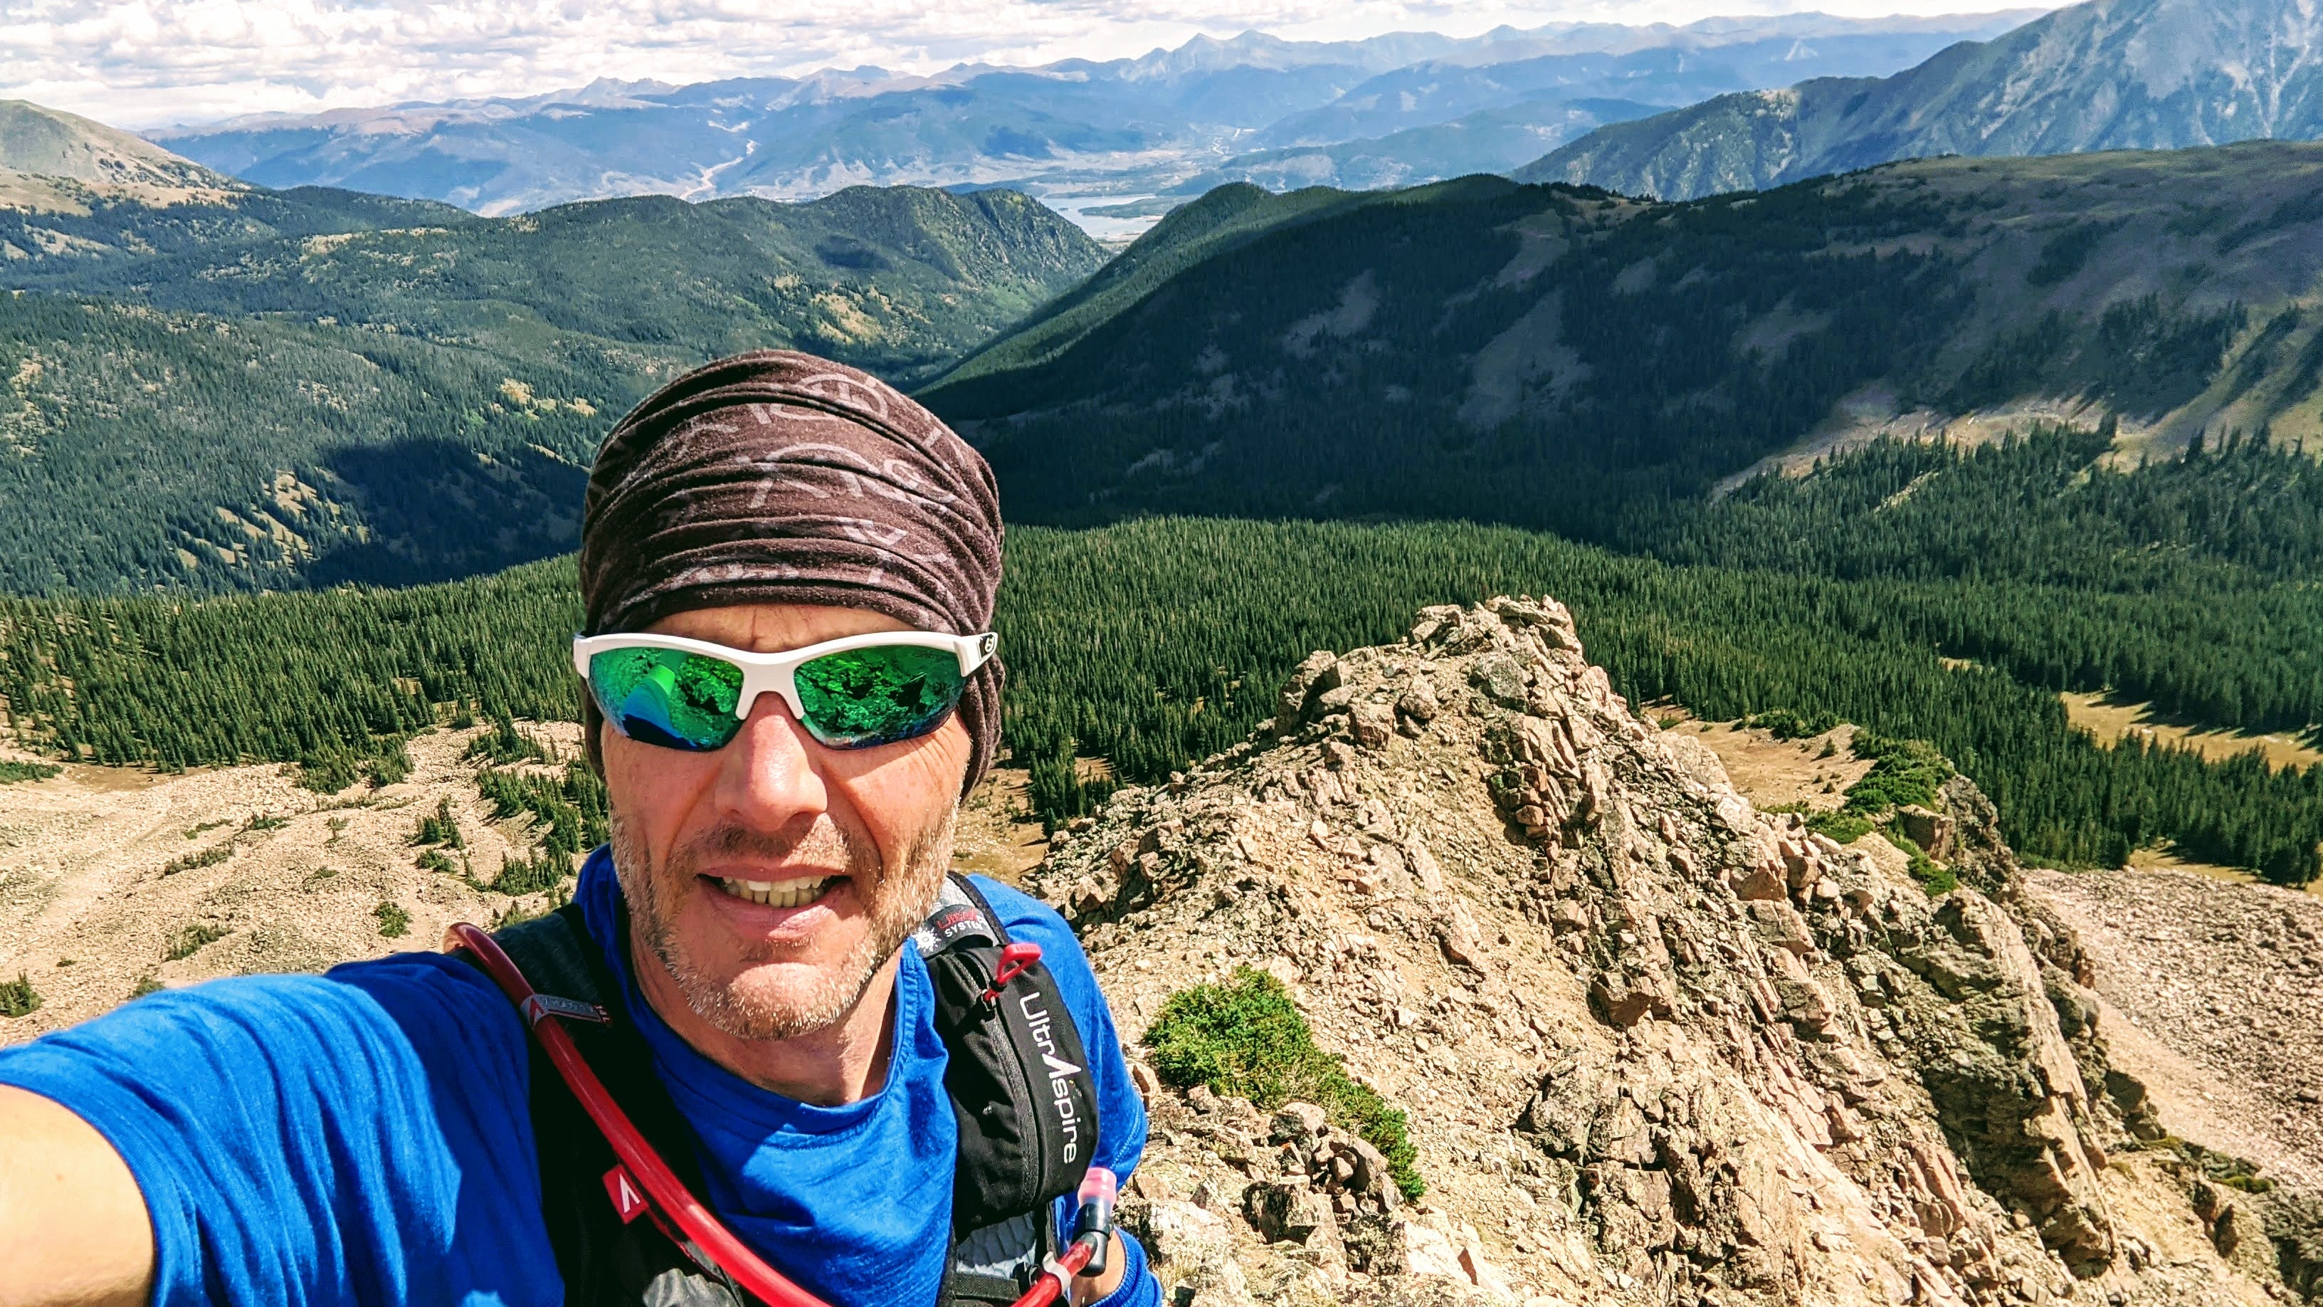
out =
[[(906, 626), (864, 609), (736, 605), (648, 630), (778, 654)], [(971, 751), (957, 714), (918, 740), (825, 749), (767, 693), (706, 754), (602, 733), (632, 930), (727, 1035), (832, 1026), (934, 907)]]

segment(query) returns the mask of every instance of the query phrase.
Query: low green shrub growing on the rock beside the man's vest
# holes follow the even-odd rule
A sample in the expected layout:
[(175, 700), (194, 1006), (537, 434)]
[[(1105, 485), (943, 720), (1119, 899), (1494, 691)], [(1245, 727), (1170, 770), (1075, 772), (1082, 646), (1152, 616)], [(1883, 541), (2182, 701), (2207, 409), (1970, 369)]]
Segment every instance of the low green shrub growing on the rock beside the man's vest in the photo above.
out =
[(1236, 967), (1222, 986), (1173, 993), (1145, 1030), (1145, 1047), (1152, 1049), (1155, 1074), (1168, 1086), (1201, 1084), (1266, 1112), (1292, 1100), (1322, 1107), (1387, 1156), (1405, 1198), (1426, 1193), (1403, 1112), (1315, 1047), (1315, 1033), (1275, 977)]

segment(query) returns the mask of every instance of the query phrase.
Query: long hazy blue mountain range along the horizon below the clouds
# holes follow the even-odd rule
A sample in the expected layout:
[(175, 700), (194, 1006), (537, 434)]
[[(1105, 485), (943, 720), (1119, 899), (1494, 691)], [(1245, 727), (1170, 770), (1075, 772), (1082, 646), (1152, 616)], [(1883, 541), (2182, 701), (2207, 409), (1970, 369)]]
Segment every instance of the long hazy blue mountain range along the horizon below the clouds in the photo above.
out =
[[(1812, 74), (1891, 72), (2030, 14), (1561, 23), (1468, 40), (1285, 42), (1247, 33), (1108, 63), (962, 65), (936, 77), (862, 67), (699, 86), (599, 81), (525, 100), (267, 114), (156, 140), (265, 186), (348, 186), (486, 214), (625, 193), (808, 198), (848, 184), (1006, 181), (1064, 202), (1180, 191), (1252, 149), (1394, 137), (1475, 114), (1561, 121), (1568, 114), (1554, 105), (1566, 100), (1675, 107)], [(1508, 144), (1517, 140), (1503, 133), (1496, 149), (1457, 160), (1498, 160), (1559, 137)], [(1359, 172), (1394, 181), (1457, 172), (1403, 147), (1382, 149), (1405, 163)]]

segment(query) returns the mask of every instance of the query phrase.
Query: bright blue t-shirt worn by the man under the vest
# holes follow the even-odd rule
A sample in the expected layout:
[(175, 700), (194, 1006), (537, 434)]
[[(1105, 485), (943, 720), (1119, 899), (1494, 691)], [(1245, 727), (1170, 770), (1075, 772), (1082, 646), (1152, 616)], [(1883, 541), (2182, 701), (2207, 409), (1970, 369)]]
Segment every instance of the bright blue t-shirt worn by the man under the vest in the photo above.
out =
[[(1080, 944), (1041, 902), (978, 888), (1013, 937), (1041, 944), (1089, 1054), (1096, 1160), (1127, 1181), (1145, 1107)], [(597, 849), (576, 898), (599, 942), (618, 895)], [(627, 958), (609, 947), (606, 960), (695, 1128), (718, 1216), (834, 1307), (934, 1302), (957, 1123), (918, 951), (897, 970), (887, 1084), (843, 1107), (718, 1067), (639, 998)], [(516, 1009), (439, 954), (163, 991), (0, 1051), (0, 1084), (70, 1107), (121, 1151), (153, 1219), (153, 1302), (172, 1307), (562, 1302), (527, 1079)], [(1157, 1307), (1143, 1251), (1122, 1240), (1131, 1265), (1108, 1307)]]

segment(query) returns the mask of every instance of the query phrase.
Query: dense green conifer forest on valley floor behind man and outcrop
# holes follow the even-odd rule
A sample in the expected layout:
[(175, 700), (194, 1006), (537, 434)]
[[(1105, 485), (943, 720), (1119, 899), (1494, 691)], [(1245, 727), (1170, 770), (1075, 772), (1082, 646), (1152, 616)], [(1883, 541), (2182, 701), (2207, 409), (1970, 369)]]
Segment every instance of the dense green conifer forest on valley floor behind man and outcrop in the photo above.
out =
[[(1689, 556), (1807, 537), (1735, 547), (1740, 565), (1450, 523), (1015, 530), (997, 619), (1008, 744), (1036, 802), (1066, 816), (1094, 798), (1076, 754), (1162, 779), (1271, 716), (1306, 651), (1391, 640), (1426, 602), (1533, 591), (1575, 607), (1594, 656), (1640, 702), (1930, 740), (2028, 854), (2112, 865), (2172, 844), (2311, 879), (2323, 767), (2107, 749), (2054, 691), (2135, 686), (2211, 721), (2323, 719), (2323, 598), (2302, 577), (2323, 549), (2314, 467), (2256, 447), (2135, 472), (2093, 472), (2095, 456), (2058, 435), (1975, 456), (1879, 447), (1807, 484), (1754, 484), (1663, 540)], [(2009, 523), (2081, 544), (2061, 558), (1972, 547)], [(2119, 586), (2077, 577), (2107, 560), (2128, 563)], [(58, 754), (348, 774), (453, 714), (571, 716), (571, 586), (558, 560), (453, 586), (190, 607), (12, 600), (0, 695), (19, 737)]]

